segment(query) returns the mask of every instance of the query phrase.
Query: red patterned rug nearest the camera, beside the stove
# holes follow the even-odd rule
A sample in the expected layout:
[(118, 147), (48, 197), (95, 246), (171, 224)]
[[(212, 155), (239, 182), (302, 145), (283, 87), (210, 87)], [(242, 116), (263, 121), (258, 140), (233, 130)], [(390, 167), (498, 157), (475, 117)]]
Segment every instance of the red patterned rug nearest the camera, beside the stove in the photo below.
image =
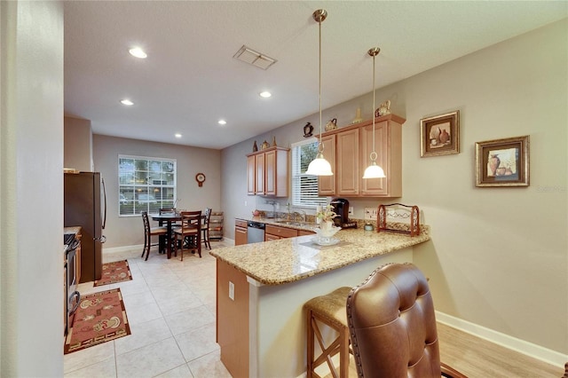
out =
[(120, 288), (81, 298), (73, 327), (65, 340), (64, 354), (130, 335)]

